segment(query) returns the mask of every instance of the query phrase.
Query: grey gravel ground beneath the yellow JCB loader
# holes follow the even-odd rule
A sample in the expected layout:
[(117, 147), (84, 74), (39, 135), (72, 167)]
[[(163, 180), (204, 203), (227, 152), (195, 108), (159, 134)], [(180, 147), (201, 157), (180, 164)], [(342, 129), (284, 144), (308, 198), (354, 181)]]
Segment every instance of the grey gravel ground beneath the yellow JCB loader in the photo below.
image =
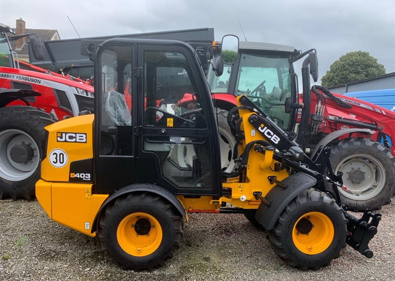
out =
[(0, 280), (395, 280), (395, 203), (381, 210), (367, 259), (346, 247), (319, 270), (285, 265), (243, 215), (193, 214), (164, 267), (125, 271), (90, 238), (47, 217), (37, 201), (0, 201)]

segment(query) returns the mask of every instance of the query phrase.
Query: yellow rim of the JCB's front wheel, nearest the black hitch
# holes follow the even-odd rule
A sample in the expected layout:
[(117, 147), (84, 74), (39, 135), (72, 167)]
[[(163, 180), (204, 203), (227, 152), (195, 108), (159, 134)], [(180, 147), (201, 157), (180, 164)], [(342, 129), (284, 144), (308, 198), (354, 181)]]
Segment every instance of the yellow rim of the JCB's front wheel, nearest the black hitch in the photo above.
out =
[(315, 255), (328, 249), (332, 243), (332, 221), (323, 213), (310, 212), (301, 216), (292, 230), (292, 240), (298, 250)]

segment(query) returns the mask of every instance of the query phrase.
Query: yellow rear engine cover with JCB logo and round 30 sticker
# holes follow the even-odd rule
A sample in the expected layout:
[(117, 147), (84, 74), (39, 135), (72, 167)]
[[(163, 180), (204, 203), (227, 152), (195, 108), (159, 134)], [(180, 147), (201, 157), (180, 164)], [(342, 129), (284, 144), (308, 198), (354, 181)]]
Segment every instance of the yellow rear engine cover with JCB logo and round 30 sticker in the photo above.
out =
[[(91, 234), (93, 220), (107, 194), (93, 194), (92, 184), (69, 183), (70, 163), (93, 157), (93, 115), (66, 119), (46, 127), (49, 132), (47, 157), (41, 163), (41, 180), (36, 183), (36, 197), (50, 219)], [(58, 141), (60, 132), (86, 134), (85, 142)], [(74, 140), (74, 139), (73, 139)], [(49, 154), (61, 149), (67, 154), (67, 163), (56, 168), (50, 164)]]

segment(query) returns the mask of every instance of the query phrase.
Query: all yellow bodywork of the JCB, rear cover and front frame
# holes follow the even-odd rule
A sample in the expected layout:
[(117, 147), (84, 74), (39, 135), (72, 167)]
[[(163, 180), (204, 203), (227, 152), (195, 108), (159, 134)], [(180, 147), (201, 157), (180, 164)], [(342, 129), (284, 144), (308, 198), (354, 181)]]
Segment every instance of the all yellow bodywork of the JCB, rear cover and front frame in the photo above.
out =
[[(237, 103), (240, 106), (239, 98)], [(262, 140), (263, 136), (248, 122), (248, 117), (253, 113), (244, 109), (239, 110), (239, 114), (245, 134), (243, 145), (239, 145), (238, 151), (241, 154), (247, 143)], [(36, 197), (51, 219), (90, 236), (95, 235), (91, 234), (92, 223), (108, 195), (92, 193), (92, 184), (70, 183), (69, 176), (72, 177), (72, 174), (69, 174), (69, 168), (72, 161), (93, 157), (93, 119), (93, 115), (83, 115), (46, 127), (49, 131), (47, 157), (42, 161), (42, 179), (36, 184)], [(59, 132), (86, 134), (86, 142), (59, 142)], [(55, 149), (62, 149), (67, 153), (67, 163), (61, 168), (54, 167), (49, 161), (49, 153)], [(212, 196), (177, 198), (186, 213), (218, 213), (222, 203), (244, 209), (257, 209), (261, 201), (254, 197), (253, 192), (261, 192), (264, 197), (275, 186), (270, 184), (268, 176), (275, 176), (280, 181), (288, 176), (286, 170), (275, 172), (275, 163), (273, 151), (258, 153), (251, 149), (246, 167), (246, 181), (239, 182), (237, 177), (223, 183), (224, 188), (231, 190), (231, 196), (215, 199)]]

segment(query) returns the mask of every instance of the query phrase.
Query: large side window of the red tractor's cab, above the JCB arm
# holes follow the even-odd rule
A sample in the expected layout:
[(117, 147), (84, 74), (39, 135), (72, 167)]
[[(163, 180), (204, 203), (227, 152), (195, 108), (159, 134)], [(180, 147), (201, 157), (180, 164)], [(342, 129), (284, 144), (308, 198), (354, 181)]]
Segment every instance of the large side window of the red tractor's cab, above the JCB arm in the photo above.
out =
[(291, 97), (291, 67), (287, 57), (241, 54), (236, 95), (245, 94), (283, 130), (291, 113), (285, 113), (285, 99)]

